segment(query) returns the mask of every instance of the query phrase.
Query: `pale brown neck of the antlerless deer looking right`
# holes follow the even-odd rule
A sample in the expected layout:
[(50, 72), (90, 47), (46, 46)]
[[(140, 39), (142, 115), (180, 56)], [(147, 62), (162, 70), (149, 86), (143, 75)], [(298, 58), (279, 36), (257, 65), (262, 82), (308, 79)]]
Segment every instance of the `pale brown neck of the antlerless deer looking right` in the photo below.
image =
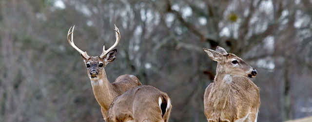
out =
[(229, 94), (231, 90), (232, 76), (230, 74), (226, 74), (224, 70), (222, 70), (222, 66), (217, 66), (217, 72), (215, 75), (215, 87), (212, 91), (214, 94), (214, 106), (220, 109), (224, 109), (226, 103), (229, 100)]

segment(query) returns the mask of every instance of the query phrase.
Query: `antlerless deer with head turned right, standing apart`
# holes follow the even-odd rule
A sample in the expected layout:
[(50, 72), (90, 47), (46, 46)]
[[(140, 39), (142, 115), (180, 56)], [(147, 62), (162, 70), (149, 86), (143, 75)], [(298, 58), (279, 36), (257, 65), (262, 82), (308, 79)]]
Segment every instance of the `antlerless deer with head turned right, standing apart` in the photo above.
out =
[(257, 71), (220, 46), (215, 50), (203, 49), (217, 62), (214, 82), (204, 94), (208, 122), (257, 122), (259, 88), (249, 79), (254, 78)]

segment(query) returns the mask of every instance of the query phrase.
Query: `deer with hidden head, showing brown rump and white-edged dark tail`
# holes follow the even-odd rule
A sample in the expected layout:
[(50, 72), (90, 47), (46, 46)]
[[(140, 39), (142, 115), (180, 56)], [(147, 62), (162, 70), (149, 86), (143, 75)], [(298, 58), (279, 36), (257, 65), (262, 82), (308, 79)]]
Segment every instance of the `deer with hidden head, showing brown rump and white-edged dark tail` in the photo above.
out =
[(149, 85), (134, 87), (118, 96), (107, 112), (107, 122), (168, 122), (169, 96)]

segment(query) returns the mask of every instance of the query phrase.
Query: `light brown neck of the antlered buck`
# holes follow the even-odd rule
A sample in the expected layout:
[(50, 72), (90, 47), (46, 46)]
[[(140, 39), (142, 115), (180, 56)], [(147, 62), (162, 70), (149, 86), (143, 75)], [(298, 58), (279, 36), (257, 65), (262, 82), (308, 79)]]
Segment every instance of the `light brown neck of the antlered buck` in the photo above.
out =
[(103, 70), (102, 75), (98, 79), (91, 80), (92, 90), (98, 104), (102, 108), (108, 110), (109, 105), (114, 100), (114, 93), (112, 91), (112, 84), (108, 81), (106, 72)]

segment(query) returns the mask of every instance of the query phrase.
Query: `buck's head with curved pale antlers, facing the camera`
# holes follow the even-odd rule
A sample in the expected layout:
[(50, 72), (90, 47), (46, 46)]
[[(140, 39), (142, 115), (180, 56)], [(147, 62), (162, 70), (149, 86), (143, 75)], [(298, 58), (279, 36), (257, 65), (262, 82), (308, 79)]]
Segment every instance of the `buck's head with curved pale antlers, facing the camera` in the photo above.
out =
[[(69, 28), (68, 33), (67, 33), (67, 41), (68, 43), (75, 48), (81, 55), (85, 66), (87, 67), (87, 73), (90, 78), (90, 80), (98, 80), (101, 79), (103, 72), (104, 72), (104, 67), (114, 61), (116, 59), (116, 53), (117, 49), (114, 49), (118, 42), (120, 41), (120, 33), (119, 29), (115, 25), (115, 31), (116, 31), (116, 41), (113, 46), (111, 46), (109, 49), (105, 50), (105, 45), (103, 45), (103, 52), (100, 56), (89, 56), (87, 52), (84, 52), (80, 50), (74, 43), (74, 28), (75, 25)], [(72, 30), (72, 31), (71, 31)], [(71, 36), (71, 39), (70, 39)]]

